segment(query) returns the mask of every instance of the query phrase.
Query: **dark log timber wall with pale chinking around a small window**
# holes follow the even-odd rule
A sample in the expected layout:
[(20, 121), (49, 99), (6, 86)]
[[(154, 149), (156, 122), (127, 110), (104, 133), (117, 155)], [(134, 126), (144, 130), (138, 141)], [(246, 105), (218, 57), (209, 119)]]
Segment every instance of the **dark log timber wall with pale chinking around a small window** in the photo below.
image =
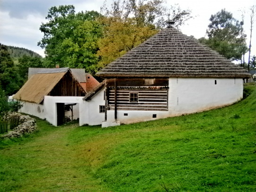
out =
[[(167, 111), (168, 84), (168, 78), (118, 78), (116, 108), (117, 110)], [(106, 87), (107, 109), (115, 110), (115, 79), (107, 79)], [(130, 92), (137, 93), (137, 102), (130, 101)]]

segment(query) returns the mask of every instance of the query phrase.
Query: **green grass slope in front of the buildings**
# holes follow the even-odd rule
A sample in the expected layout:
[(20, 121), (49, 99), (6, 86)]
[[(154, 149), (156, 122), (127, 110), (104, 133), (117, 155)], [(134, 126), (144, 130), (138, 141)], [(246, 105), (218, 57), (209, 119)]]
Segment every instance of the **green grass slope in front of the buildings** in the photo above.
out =
[(0, 141), (1, 192), (255, 192), (256, 86), (229, 107)]

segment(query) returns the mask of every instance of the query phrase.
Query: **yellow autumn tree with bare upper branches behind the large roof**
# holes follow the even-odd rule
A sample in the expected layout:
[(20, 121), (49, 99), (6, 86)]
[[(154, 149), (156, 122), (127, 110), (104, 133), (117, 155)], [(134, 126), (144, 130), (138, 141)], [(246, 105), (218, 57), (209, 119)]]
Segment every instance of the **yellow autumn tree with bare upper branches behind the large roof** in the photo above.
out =
[(113, 0), (111, 9), (104, 4), (101, 12), (105, 17), (101, 18), (104, 37), (99, 40), (100, 67), (157, 33), (170, 17), (176, 27), (191, 18), (190, 10), (177, 5), (168, 9), (163, 0)]

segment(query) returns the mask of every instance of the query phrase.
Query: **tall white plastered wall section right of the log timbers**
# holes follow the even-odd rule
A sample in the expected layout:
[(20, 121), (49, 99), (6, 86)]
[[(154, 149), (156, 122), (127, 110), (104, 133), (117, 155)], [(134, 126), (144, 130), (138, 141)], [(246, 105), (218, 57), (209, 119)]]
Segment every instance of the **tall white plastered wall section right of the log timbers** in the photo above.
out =
[(182, 115), (222, 107), (232, 104), (242, 97), (242, 79), (169, 79), (168, 108), (171, 115)]

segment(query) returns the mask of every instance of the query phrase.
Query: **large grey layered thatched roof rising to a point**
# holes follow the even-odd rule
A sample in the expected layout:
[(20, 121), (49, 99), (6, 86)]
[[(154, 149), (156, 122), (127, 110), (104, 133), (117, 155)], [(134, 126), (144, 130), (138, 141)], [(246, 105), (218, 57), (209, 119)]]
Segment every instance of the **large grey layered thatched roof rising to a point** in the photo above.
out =
[(102, 68), (102, 77), (239, 77), (241, 67), (169, 26)]

